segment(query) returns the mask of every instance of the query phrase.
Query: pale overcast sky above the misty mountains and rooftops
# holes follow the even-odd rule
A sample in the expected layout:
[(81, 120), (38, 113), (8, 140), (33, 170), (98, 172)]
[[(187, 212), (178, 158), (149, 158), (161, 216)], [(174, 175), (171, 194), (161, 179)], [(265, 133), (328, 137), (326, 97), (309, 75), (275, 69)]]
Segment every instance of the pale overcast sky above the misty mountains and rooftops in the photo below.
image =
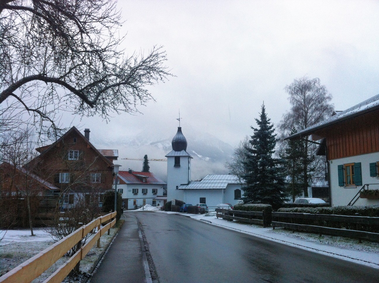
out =
[(379, 93), (377, 1), (122, 0), (118, 6), (126, 21), (122, 47), (131, 54), (163, 45), (176, 77), (149, 88), (157, 101), (140, 106), (143, 115), (123, 114), (108, 125), (83, 119), (91, 135), (148, 135), (154, 128), (174, 136), (180, 108), (184, 133), (198, 128), (235, 146), (252, 134), (263, 101), (279, 122), (290, 108), (284, 88), (294, 78), (320, 78), (337, 110)]

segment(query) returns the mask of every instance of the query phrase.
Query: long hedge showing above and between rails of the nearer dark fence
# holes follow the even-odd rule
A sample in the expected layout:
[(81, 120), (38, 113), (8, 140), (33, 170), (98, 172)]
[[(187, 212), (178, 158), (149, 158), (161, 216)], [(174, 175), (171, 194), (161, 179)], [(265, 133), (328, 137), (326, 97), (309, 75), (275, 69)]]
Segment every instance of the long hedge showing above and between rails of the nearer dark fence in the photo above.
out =
[[(316, 207), (316, 208), (280, 208), (278, 212), (291, 212), (291, 213), (311, 213), (311, 214), (329, 214), (329, 215), (346, 215), (346, 216), (368, 216), (379, 217), (379, 205), (370, 206), (334, 206), (334, 207)], [(280, 218), (280, 217), (279, 217)], [(283, 220), (286, 222), (288, 219)], [(331, 228), (360, 230), (373, 233), (379, 233), (379, 225), (360, 225), (336, 222), (332, 220), (311, 220), (311, 219), (292, 219), (296, 224), (316, 225)], [(280, 221), (280, 220), (279, 220)]]

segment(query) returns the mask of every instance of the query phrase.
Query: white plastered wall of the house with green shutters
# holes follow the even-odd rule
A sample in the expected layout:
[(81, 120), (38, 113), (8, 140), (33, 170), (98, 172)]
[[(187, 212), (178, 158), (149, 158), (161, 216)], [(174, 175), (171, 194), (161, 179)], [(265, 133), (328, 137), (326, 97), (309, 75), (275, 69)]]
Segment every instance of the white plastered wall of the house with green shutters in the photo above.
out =
[[(330, 189), (332, 197), (332, 206), (348, 205), (354, 195), (362, 186), (340, 187), (338, 186), (338, 165), (348, 163), (361, 163), (362, 167), (362, 185), (379, 183), (379, 178), (370, 177), (370, 163), (379, 161), (379, 152), (367, 153), (363, 155), (350, 156), (330, 160)], [(372, 185), (373, 189), (379, 189), (379, 185)], [(358, 199), (354, 205), (377, 205), (379, 200)]]

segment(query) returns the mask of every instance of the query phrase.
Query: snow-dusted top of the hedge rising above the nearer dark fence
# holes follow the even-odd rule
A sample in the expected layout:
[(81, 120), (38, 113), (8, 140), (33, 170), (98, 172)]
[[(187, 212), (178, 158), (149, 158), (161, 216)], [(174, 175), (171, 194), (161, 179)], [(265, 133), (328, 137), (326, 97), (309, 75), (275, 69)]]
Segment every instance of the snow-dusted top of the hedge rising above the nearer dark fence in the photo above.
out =
[(334, 206), (334, 207), (294, 207), (294, 208), (279, 208), (278, 212), (296, 212), (296, 213), (316, 213), (320, 214), (335, 214), (335, 215), (349, 215), (355, 216), (359, 213), (359, 216), (379, 217), (379, 205), (369, 206)]

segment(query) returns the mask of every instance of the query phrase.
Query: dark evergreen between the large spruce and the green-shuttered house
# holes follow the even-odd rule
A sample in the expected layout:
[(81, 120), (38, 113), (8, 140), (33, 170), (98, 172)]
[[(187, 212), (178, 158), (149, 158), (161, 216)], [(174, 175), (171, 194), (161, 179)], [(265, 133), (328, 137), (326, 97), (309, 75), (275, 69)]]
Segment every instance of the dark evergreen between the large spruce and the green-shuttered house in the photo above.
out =
[[(293, 128), (291, 135), (298, 131)], [(309, 159), (305, 154), (305, 144), (301, 139), (287, 141), (285, 153), (280, 155), (283, 160), (284, 174), (288, 178), (288, 191), (295, 201), (297, 195), (301, 194), (304, 188), (304, 159)], [(310, 162), (310, 160), (308, 160)], [(308, 186), (308, 184), (306, 184)]]

